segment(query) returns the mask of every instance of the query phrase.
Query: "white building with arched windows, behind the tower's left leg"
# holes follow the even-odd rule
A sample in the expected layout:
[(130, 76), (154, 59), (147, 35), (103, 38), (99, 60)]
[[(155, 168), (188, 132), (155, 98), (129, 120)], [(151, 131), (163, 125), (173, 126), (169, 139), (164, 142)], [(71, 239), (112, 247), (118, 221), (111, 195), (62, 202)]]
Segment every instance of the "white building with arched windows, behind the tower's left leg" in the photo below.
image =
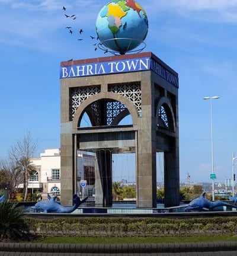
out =
[[(46, 149), (39, 158), (33, 158), (32, 164), (36, 171), (30, 176), (28, 190), (31, 194), (41, 194), (41, 199), (47, 199), (47, 194), (60, 196), (60, 149)], [(95, 194), (95, 156), (93, 153), (78, 151), (76, 192), (82, 194), (81, 180), (87, 180), (84, 194)], [(20, 186), (23, 187), (23, 184)]]

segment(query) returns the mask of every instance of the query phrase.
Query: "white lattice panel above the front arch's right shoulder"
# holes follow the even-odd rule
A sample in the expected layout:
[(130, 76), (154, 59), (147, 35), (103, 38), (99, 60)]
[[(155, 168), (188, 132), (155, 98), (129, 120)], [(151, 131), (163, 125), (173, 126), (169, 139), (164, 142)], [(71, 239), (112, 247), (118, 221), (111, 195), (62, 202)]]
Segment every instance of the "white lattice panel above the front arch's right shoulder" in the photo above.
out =
[(121, 94), (128, 98), (137, 108), (137, 112), (142, 111), (142, 90), (140, 82), (129, 82), (123, 84), (109, 85), (108, 91)]

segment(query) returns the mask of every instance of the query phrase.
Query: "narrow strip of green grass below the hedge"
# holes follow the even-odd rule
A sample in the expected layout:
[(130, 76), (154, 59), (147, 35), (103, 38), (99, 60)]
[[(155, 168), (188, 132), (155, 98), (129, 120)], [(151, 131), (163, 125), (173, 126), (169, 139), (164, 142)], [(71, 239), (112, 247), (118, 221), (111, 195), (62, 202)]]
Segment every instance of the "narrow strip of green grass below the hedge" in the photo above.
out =
[(193, 237), (100, 237), (100, 238), (72, 238), (72, 237), (54, 237), (37, 239), (34, 242), (56, 243), (56, 244), (122, 244), (122, 243), (162, 243), (162, 242), (220, 242), (237, 241), (236, 236), (193, 236)]

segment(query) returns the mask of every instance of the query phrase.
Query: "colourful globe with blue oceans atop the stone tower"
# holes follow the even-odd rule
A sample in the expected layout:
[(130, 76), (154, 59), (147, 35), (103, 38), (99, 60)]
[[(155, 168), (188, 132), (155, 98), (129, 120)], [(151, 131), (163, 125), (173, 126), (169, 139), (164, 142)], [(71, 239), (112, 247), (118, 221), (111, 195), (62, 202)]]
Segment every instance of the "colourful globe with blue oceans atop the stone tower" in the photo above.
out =
[[(123, 55), (134, 50), (140, 52), (148, 34), (148, 17), (145, 10), (133, 0), (114, 0), (98, 14), (95, 24), (100, 49)], [(108, 50), (110, 49), (110, 50)]]

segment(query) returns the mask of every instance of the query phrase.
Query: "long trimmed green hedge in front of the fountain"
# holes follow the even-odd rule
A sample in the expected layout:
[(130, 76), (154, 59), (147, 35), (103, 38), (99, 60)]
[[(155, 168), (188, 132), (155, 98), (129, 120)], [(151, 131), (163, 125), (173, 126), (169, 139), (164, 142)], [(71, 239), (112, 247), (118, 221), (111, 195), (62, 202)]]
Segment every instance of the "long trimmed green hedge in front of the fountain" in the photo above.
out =
[(201, 236), (237, 235), (237, 217), (164, 219), (155, 217), (26, 218), (40, 236)]

